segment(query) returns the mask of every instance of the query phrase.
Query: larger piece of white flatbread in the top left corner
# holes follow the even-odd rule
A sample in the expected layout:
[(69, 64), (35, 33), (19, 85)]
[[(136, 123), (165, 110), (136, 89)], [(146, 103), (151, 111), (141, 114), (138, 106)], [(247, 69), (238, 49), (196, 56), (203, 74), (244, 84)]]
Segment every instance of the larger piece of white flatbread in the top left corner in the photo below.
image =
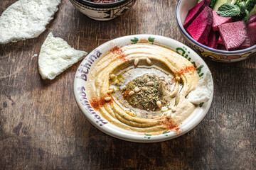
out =
[(60, 0), (20, 0), (0, 16), (0, 44), (36, 38), (58, 11)]

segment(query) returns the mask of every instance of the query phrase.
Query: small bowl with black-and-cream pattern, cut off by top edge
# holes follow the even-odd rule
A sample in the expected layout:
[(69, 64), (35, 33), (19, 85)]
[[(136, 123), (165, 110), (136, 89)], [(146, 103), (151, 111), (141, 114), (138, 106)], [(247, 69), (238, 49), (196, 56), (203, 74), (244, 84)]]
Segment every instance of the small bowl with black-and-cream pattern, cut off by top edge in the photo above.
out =
[(97, 21), (108, 21), (117, 16), (121, 16), (134, 5), (135, 1), (136, 0), (120, 0), (100, 4), (86, 0), (70, 0), (71, 4), (73, 4), (78, 11)]

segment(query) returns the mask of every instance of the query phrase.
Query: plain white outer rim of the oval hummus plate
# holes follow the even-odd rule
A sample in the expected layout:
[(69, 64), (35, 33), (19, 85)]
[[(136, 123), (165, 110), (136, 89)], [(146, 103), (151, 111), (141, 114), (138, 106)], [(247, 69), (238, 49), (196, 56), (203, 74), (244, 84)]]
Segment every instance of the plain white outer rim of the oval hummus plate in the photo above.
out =
[[(193, 56), (196, 56), (196, 60), (198, 60), (201, 64), (204, 65), (204, 69), (208, 70), (208, 72), (210, 72), (210, 69), (208, 68), (208, 65), (206, 64), (206, 62), (204, 62), (204, 60), (194, 51), (192, 50), (190, 47), (188, 47), (187, 45), (184, 45), (182, 42), (178, 42), (177, 40), (174, 40), (172, 38), (167, 38), (161, 35), (153, 35), (153, 34), (137, 34), (137, 35), (126, 35), (126, 36), (122, 36), (119, 38), (115, 38), (112, 40), (109, 40), (105, 43), (103, 43), (102, 45), (96, 47), (94, 50), (92, 50), (92, 52), (90, 52), (86, 57), (89, 57), (90, 55), (94, 54), (95, 50), (100, 50), (101, 48), (104, 47), (109, 47), (110, 45), (112, 45), (113, 42), (122, 42), (122, 40), (124, 40), (124, 42), (126, 41), (126, 39), (132, 39), (134, 37), (137, 38), (145, 38), (145, 37), (154, 37), (154, 38), (159, 38), (160, 41), (164, 41), (167, 40), (169, 41), (168, 44), (178, 44), (181, 45), (183, 47), (186, 47), (188, 50), (190, 50), (191, 55), (193, 54)], [(124, 43), (125, 45), (128, 45), (127, 42)], [(161, 43), (160, 43), (161, 45)], [(105, 53), (104, 53), (105, 54)], [(102, 56), (104, 56), (104, 54), (102, 54)], [(87, 58), (85, 57), (84, 60), (82, 60), (82, 62), (80, 62), (80, 66), (83, 64), (83, 62), (85, 60), (87, 60)], [(95, 62), (96, 63), (96, 62)], [(112, 137), (116, 137), (119, 140), (126, 140), (129, 142), (142, 142), (142, 143), (151, 143), (151, 142), (163, 142), (166, 140), (171, 140), (174, 139), (176, 137), (179, 137), (181, 135), (186, 134), (188, 131), (192, 130), (193, 128), (196, 127), (196, 125), (198, 125), (199, 123), (201, 123), (201, 121), (203, 120), (203, 118), (206, 116), (206, 114), (208, 113), (208, 110), (211, 106), (211, 103), (213, 101), (213, 92), (210, 95), (210, 100), (207, 101), (204, 106), (203, 111), (200, 111), (200, 114), (196, 115), (196, 116), (191, 116), (192, 114), (194, 115), (196, 112), (193, 111), (193, 113), (191, 113), (191, 115), (188, 116), (188, 118), (186, 118), (185, 120), (183, 120), (183, 122), (188, 121), (187, 123), (182, 123), (181, 125), (179, 125), (178, 127), (182, 129), (181, 132), (178, 132), (178, 134), (176, 133), (172, 133), (172, 135), (169, 136), (165, 136), (164, 134), (160, 134), (160, 135), (156, 135), (155, 137), (152, 137), (150, 140), (145, 139), (145, 133), (144, 135), (140, 135), (138, 134), (129, 134), (129, 133), (124, 133), (122, 131), (119, 131), (119, 127), (112, 125), (111, 123), (109, 123), (109, 126), (104, 126), (104, 128), (102, 128), (102, 126), (100, 126), (99, 124), (96, 123), (95, 119), (92, 117), (92, 115), (87, 111), (87, 109), (82, 106), (82, 102), (80, 101), (80, 96), (78, 95), (78, 87), (81, 86), (81, 84), (79, 84), (78, 79), (76, 79), (76, 77), (79, 74), (79, 69), (80, 66), (78, 67), (75, 76), (74, 76), (74, 84), (73, 84), (73, 92), (74, 92), (74, 96), (75, 96), (75, 101), (78, 104), (78, 107), (80, 108), (80, 111), (85, 115), (85, 117), (87, 118), (87, 120), (90, 121), (90, 123), (92, 123), (92, 125), (94, 125), (97, 129), (99, 129), (100, 131), (104, 132), (107, 135), (110, 135)], [(92, 66), (93, 67), (93, 66)], [(90, 73), (90, 72), (89, 72)], [(213, 81), (213, 77), (211, 77), (212, 81)], [(86, 84), (86, 83), (85, 83)], [(213, 91), (214, 91), (214, 86), (213, 86)], [(201, 109), (201, 108), (200, 108)], [(191, 117), (191, 118), (190, 118)], [(113, 128), (114, 126), (114, 128)]]

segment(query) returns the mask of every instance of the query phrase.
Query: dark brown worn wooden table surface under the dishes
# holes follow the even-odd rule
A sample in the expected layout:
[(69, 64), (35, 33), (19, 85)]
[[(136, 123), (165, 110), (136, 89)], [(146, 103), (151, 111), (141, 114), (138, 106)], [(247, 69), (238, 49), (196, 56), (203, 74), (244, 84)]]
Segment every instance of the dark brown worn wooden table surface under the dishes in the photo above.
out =
[[(0, 1), (0, 14), (16, 0)], [(112, 21), (94, 21), (63, 0), (38, 38), (0, 45), (0, 169), (256, 169), (256, 57), (206, 60), (214, 97), (193, 130), (151, 144), (118, 140), (97, 130), (75, 102), (80, 62), (53, 81), (41, 79), (38, 57), (51, 31), (91, 52), (113, 38), (156, 34), (183, 42), (177, 0), (138, 0)]]

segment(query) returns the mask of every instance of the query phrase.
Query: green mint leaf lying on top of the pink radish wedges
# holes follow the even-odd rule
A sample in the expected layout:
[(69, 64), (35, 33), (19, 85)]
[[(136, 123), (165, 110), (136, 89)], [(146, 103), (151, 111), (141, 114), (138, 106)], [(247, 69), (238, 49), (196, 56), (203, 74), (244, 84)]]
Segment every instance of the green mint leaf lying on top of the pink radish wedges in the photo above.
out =
[(239, 6), (230, 3), (221, 5), (217, 11), (220, 16), (238, 16), (240, 12)]

